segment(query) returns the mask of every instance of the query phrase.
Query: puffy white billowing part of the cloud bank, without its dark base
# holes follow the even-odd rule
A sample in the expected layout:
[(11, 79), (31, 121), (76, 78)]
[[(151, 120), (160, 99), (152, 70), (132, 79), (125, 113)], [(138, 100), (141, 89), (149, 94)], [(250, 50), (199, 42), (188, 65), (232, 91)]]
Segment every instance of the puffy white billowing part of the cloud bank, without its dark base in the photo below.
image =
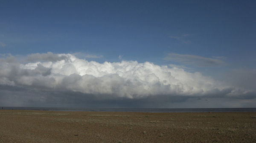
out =
[[(26, 64), (0, 63), (0, 84), (52, 91), (70, 91), (99, 98), (207, 96), (231, 93), (214, 79), (150, 62), (98, 63), (72, 54), (32, 54)], [(226, 92), (229, 91), (229, 92)]]

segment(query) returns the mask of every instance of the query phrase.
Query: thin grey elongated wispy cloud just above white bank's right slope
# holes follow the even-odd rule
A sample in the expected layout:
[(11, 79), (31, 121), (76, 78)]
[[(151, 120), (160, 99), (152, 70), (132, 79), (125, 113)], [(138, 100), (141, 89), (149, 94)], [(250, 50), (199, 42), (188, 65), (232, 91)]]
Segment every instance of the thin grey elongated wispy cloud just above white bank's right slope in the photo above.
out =
[(164, 59), (180, 62), (182, 64), (187, 64), (187, 65), (196, 65), (200, 67), (212, 67), (212, 66), (220, 66), (220, 65), (226, 64), (224, 61), (216, 58), (206, 58), (206, 57), (197, 56), (197, 55), (177, 54), (177, 53), (169, 53)]

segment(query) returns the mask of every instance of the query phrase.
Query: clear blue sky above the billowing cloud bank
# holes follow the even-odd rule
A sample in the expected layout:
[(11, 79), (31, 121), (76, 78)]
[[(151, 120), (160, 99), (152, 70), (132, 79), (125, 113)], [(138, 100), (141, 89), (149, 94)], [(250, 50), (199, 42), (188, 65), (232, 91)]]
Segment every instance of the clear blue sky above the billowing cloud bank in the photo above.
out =
[(1, 0), (0, 54), (151, 62), (254, 91), (255, 6), (254, 0)]

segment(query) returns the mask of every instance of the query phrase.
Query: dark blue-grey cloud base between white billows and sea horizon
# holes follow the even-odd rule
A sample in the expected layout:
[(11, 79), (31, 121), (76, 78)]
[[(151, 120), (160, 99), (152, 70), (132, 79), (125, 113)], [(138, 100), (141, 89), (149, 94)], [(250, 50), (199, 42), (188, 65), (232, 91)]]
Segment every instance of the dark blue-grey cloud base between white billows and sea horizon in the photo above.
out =
[[(9, 107), (79, 107), (79, 108), (213, 108), (233, 107), (232, 104), (249, 100), (243, 107), (254, 107), (256, 93), (237, 97), (228, 96), (168, 96), (144, 98), (101, 98), (70, 91), (46, 91), (25, 87), (0, 86), (0, 106)], [(108, 96), (109, 97), (109, 96)], [(251, 101), (252, 100), (252, 101)], [(232, 102), (234, 101), (234, 102)], [(227, 103), (229, 102), (229, 103)]]

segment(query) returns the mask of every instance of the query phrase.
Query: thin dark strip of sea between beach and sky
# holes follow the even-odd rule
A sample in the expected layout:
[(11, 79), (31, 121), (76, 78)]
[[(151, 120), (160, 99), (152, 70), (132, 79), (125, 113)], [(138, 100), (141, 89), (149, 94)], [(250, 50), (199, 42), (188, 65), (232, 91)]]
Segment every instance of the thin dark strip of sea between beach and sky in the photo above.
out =
[[(2, 108), (2, 107), (1, 107)], [(15, 110), (96, 111), (96, 112), (256, 112), (256, 108), (57, 108), (57, 107), (3, 107)]]

